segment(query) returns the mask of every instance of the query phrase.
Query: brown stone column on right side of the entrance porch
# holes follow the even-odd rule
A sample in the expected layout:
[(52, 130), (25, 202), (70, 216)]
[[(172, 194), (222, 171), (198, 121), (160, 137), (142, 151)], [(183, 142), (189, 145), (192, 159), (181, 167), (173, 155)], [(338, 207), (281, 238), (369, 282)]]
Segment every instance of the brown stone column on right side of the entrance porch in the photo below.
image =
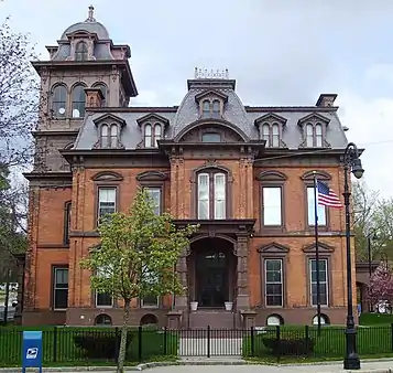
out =
[(237, 309), (250, 309), (250, 290), (249, 290), (249, 238), (248, 234), (238, 235), (237, 251), (238, 257), (238, 294), (237, 294)]

